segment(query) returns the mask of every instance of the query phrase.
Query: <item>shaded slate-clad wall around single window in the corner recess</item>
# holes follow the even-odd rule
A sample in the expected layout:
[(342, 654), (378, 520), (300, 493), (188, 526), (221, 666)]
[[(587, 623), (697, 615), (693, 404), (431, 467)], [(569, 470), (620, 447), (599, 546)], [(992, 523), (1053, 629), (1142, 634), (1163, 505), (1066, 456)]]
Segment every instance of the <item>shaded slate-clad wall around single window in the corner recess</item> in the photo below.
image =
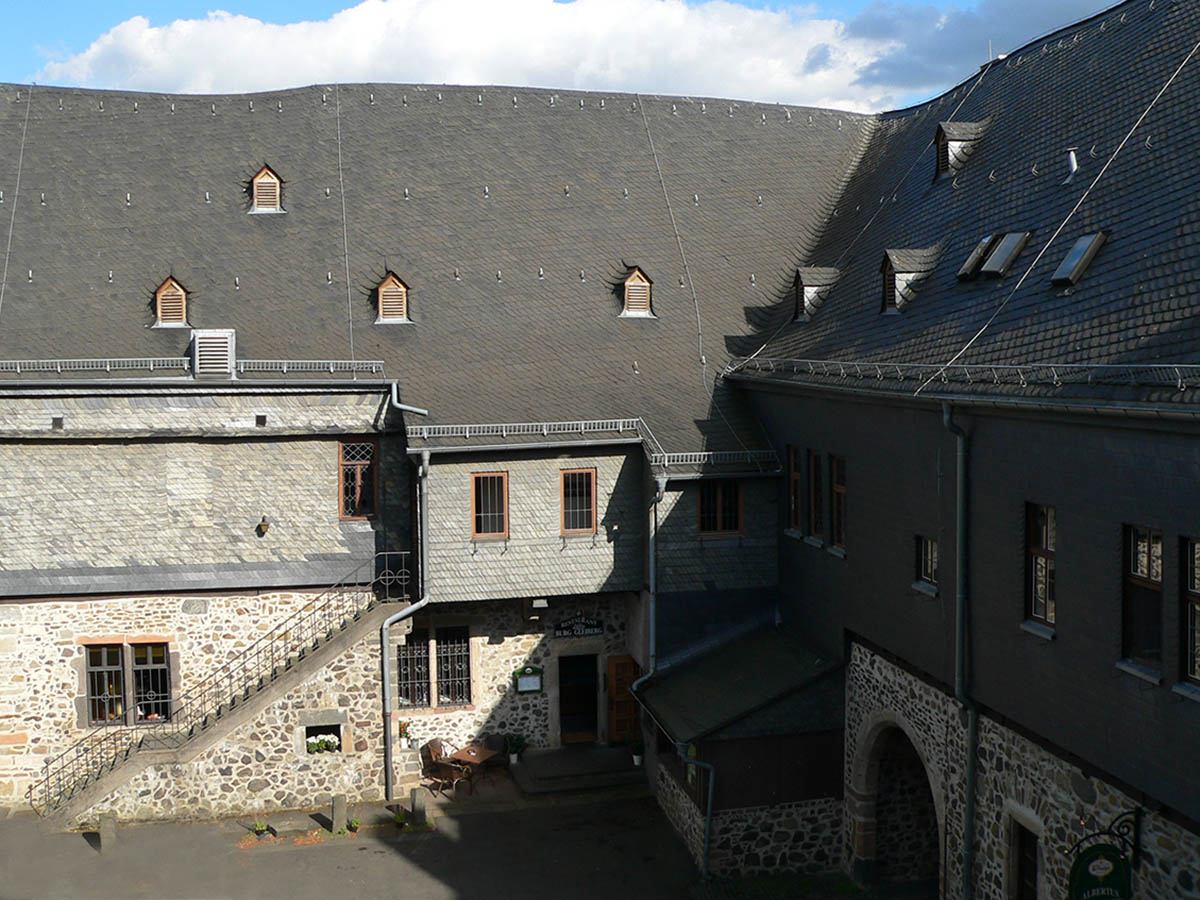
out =
[(743, 533), (701, 535), (697, 482), (668, 485), (658, 509), (659, 593), (773, 588), (779, 583), (779, 481), (744, 479), (742, 492)]

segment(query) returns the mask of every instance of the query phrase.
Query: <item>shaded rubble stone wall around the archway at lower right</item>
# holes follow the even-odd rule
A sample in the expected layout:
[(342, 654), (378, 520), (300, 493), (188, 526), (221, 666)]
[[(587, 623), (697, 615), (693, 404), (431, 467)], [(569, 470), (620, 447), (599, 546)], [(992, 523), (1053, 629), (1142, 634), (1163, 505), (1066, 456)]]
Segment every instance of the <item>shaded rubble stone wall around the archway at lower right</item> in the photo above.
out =
[[(966, 727), (946, 692), (860, 644), (852, 644), (846, 680), (846, 865), (854, 874), (887, 840), (878, 816), (886, 745), (901, 730), (924, 764), (936, 818), (949, 850), (942, 869), (947, 894), (962, 878)], [(1096, 827), (1141, 802), (1088, 774), (986, 715), (979, 720), (976, 806), (976, 896), (1012, 896), (1014, 824), (1038, 835), (1039, 896), (1064, 896), (1066, 851)], [(1200, 898), (1200, 835), (1145, 809), (1142, 862), (1134, 872), (1138, 900)], [(876, 833), (876, 827), (880, 832)]]

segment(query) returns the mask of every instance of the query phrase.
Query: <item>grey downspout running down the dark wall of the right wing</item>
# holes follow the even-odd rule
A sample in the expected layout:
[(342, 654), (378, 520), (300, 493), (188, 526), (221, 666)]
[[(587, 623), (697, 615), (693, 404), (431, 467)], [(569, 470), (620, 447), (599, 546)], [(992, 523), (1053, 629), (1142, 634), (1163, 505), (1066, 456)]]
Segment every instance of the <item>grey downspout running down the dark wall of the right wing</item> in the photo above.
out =
[(976, 757), (979, 755), (979, 710), (967, 692), (967, 433), (954, 424), (954, 409), (942, 403), (942, 425), (958, 451), (954, 493), (954, 697), (967, 716), (967, 784), (962, 823), (962, 900), (974, 894)]

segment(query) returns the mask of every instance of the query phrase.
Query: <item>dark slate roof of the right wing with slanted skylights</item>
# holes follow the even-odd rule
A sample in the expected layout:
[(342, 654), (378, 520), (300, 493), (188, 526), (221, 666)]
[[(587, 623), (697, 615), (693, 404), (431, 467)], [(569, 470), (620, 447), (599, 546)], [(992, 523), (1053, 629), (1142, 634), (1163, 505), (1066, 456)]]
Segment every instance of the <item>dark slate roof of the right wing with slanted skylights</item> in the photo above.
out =
[[(806, 319), (781, 298), (734, 367), (859, 390), (932, 377), (931, 394), (1194, 401), (1198, 36), (1195, 4), (1123, 4), (881, 116), (805, 256), (836, 284)], [(971, 144), (948, 148), (946, 139)]]

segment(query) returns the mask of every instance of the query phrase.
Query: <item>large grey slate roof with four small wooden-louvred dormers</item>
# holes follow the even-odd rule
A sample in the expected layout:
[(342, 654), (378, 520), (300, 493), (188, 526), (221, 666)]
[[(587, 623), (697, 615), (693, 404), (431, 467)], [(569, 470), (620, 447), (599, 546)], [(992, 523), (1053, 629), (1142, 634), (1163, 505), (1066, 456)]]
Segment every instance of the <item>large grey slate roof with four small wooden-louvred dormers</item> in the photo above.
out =
[[(714, 409), (726, 338), (776, 302), (872, 127), (510, 88), (6, 85), (0, 385), (60, 377), (13, 360), (191, 359), (203, 330), (190, 365), (241, 384), (278, 374), (232, 360), (380, 361), (422, 426), (640, 418), (667, 452), (764, 448)], [(107, 377), (146, 374), (191, 377)]]

